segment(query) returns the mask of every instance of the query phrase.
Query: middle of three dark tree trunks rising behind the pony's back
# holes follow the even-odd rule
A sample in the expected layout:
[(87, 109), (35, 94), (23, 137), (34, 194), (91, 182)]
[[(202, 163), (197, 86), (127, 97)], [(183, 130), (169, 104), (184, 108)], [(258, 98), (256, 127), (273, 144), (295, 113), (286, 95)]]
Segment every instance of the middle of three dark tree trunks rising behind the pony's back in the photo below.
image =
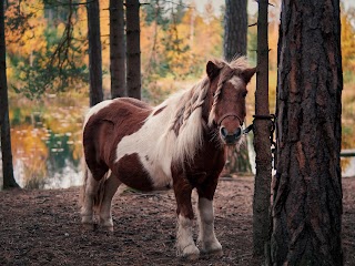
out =
[(125, 96), (125, 42), (123, 0), (110, 0), (111, 98)]

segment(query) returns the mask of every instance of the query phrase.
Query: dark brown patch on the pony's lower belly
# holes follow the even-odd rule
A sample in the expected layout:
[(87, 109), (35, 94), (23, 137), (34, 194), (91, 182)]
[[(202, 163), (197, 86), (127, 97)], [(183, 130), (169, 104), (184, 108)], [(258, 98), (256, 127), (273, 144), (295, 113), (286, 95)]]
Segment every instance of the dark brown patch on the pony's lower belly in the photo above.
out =
[(119, 180), (139, 191), (152, 191), (153, 183), (144, 170), (136, 153), (124, 155), (115, 163), (113, 171), (118, 173)]

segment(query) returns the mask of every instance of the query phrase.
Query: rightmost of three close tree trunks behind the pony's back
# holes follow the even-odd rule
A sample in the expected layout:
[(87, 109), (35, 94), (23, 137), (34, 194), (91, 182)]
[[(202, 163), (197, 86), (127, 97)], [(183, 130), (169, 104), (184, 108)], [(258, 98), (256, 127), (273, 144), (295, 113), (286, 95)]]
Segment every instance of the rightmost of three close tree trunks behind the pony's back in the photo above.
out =
[(125, 12), (126, 90), (130, 98), (141, 99), (140, 1), (126, 1)]

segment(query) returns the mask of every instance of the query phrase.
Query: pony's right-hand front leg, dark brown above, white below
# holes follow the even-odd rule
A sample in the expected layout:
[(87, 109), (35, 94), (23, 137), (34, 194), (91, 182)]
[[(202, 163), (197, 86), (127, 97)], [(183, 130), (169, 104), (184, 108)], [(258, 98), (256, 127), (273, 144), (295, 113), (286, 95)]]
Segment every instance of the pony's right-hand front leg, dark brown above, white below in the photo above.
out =
[(214, 212), (213, 212), (213, 195), (217, 180), (210, 180), (201, 187), (197, 187), (199, 203), (199, 247), (202, 253), (216, 254), (221, 256), (222, 245), (214, 234)]

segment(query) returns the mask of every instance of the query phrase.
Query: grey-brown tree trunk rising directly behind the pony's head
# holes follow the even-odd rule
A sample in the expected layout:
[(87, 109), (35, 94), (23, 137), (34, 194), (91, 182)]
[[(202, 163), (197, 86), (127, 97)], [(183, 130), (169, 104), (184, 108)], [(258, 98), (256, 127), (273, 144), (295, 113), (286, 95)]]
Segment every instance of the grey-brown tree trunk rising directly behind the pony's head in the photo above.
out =
[(246, 55), (247, 13), (245, 0), (225, 0), (224, 58)]

